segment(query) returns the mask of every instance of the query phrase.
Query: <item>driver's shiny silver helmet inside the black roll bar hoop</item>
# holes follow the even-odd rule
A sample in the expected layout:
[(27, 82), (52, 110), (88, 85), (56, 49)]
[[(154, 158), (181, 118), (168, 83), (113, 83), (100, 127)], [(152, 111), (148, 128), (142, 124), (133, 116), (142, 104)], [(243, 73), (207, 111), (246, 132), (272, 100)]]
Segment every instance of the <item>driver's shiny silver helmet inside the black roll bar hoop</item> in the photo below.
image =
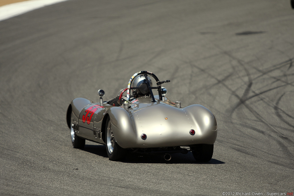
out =
[[(150, 86), (152, 87), (152, 81), (149, 77), (148, 78), (148, 81), (149, 81), (149, 84)], [(137, 76), (133, 83), (132, 83), (132, 86), (134, 88), (139, 88), (139, 89), (135, 89), (133, 91), (133, 96), (135, 97), (139, 97), (139, 96), (148, 96), (149, 95), (149, 88), (147, 86), (147, 82), (146, 82), (146, 78), (144, 75), (140, 75), (140, 76)]]

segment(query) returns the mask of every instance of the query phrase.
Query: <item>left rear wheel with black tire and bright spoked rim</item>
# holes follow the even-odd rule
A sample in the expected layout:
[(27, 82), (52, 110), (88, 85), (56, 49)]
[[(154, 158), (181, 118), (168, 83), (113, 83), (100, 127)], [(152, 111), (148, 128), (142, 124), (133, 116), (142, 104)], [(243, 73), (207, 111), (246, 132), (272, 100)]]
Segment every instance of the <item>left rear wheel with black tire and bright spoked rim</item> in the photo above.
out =
[(105, 144), (106, 144), (106, 152), (109, 157), (109, 160), (112, 161), (119, 161), (125, 158), (127, 149), (121, 148), (115, 141), (112, 128), (111, 128), (111, 121), (108, 116), (106, 120), (105, 126)]

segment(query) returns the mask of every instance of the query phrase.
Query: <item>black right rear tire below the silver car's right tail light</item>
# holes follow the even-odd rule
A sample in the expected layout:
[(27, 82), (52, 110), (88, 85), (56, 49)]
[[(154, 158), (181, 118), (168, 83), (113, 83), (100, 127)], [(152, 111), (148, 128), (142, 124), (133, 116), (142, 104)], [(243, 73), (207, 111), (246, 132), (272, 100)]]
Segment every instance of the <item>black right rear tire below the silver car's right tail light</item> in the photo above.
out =
[(193, 156), (196, 161), (210, 161), (213, 154), (213, 144), (197, 144), (193, 146)]

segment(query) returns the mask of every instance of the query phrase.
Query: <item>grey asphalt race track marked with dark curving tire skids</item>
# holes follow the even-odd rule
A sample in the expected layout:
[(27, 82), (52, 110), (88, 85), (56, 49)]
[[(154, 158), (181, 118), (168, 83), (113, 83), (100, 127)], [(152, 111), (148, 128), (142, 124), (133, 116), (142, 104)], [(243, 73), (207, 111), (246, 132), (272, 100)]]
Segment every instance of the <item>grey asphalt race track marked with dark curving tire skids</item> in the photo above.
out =
[[(293, 21), (288, 0), (70, 0), (1, 21), (0, 195), (293, 192)], [(69, 102), (142, 70), (214, 113), (210, 162), (72, 148)]]

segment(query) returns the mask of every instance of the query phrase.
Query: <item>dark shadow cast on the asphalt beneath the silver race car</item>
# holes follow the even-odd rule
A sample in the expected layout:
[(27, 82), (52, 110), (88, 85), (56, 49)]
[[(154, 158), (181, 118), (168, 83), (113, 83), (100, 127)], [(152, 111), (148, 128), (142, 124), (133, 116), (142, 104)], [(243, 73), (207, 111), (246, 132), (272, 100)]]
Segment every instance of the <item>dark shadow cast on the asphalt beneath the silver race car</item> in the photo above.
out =
[[(95, 155), (108, 158), (105, 145), (85, 145), (83, 151), (93, 153)], [(187, 154), (173, 153), (171, 160), (164, 159), (164, 154), (142, 154), (142, 153), (128, 153), (122, 163), (164, 163), (164, 164), (225, 164), (225, 162), (212, 158), (208, 162), (197, 162), (192, 152)]]

